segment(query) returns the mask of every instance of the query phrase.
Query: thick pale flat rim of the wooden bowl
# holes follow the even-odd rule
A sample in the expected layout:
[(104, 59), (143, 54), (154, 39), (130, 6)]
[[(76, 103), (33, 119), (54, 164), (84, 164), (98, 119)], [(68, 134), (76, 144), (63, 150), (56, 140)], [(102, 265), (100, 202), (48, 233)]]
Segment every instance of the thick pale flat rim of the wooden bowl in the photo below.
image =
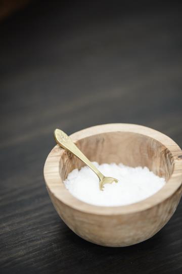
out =
[(83, 202), (74, 197), (64, 186), (59, 173), (60, 160), (65, 150), (56, 145), (45, 160), (43, 175), (48, 192), (55, 196), (61, 203), (74, 210), (87, 214), (97, 215), (122, 215), (144, 211), (154, 207), (173, 195), (182, 184), (182, 151), (179, 146), (167, 135), (138, 124), (112, 123), (102, 124), (79, 130), (70, 135), (73, 142), (92, 135), (107, 132), (134, 132), (146, 135), (164, 145), (173, 157), (173, 172), (168, 182), (152, 196), (128, 205), (103, 207)]

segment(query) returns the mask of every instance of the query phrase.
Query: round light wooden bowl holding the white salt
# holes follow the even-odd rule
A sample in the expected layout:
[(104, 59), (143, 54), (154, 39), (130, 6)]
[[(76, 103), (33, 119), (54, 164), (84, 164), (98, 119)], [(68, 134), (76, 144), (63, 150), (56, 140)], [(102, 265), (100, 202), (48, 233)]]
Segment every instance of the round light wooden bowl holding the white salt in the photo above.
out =
[(173, 140), (134, 124), (93, 126), (71, 138), (91, 161), (147, 166), (167, 181), (156, 194), (130, 205), (88, 204), (72, 196), (63, 183), (71, 170), (84, 164), (55, 146), (45, 161), (44, 178), (59, 216), (71, 230), (101, 246), (123, 247), (145, 241), (168, 222), (182, 193), (182, 151)]

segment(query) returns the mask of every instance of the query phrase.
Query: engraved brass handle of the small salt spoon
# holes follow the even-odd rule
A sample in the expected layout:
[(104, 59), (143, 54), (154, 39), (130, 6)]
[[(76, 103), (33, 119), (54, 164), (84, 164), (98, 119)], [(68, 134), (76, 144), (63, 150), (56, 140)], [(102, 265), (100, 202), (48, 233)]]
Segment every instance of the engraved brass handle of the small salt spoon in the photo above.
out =
[(104, 178), (104, 175), (97, 169), (97, 167), (92, 162), (90, 162), (86, 158), (86, 156), (79, 150), (79, 148), (73, 143), (71, 138), (64, 131), (60, 129), (55, 129), (54, 138), (60, 147), (70, 151), (81, 161), (83, 161), (86, 165), (88, 165), (93, 170), (93, 172), (95, 172), (95, 174), (99, 177), (100, 181)]

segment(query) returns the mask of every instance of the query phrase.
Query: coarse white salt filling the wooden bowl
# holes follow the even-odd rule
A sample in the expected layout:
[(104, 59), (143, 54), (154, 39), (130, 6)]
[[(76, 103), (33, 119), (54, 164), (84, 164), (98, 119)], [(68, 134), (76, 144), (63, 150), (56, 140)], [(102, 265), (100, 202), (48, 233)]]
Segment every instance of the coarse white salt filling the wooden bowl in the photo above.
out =
[(99, 179), (89, 167), (72, 170), (64, 181), (65, 186), (73, 196), (87, 203), (106, 207), (126, 205), (146, 199), (165, 185), (165, 179), (147, 167), (93, 163), (104, 176), (114, 177), (119, 182), (105, 184), (104, 190), (100, 191)]

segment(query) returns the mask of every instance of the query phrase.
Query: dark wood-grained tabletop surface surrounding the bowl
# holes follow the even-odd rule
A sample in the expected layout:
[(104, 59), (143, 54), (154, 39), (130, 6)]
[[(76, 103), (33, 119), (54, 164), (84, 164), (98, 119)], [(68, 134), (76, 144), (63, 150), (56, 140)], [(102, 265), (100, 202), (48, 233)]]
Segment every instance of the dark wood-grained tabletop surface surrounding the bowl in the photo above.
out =
[(137, 123), (182, 147), (181, 21), (175, 2), (37, 1), (0, 22), (1, 273), (180, 273), (181, 202), (148, 241), (100, 247), (59, 218), (42, 173), (56, 127)]

